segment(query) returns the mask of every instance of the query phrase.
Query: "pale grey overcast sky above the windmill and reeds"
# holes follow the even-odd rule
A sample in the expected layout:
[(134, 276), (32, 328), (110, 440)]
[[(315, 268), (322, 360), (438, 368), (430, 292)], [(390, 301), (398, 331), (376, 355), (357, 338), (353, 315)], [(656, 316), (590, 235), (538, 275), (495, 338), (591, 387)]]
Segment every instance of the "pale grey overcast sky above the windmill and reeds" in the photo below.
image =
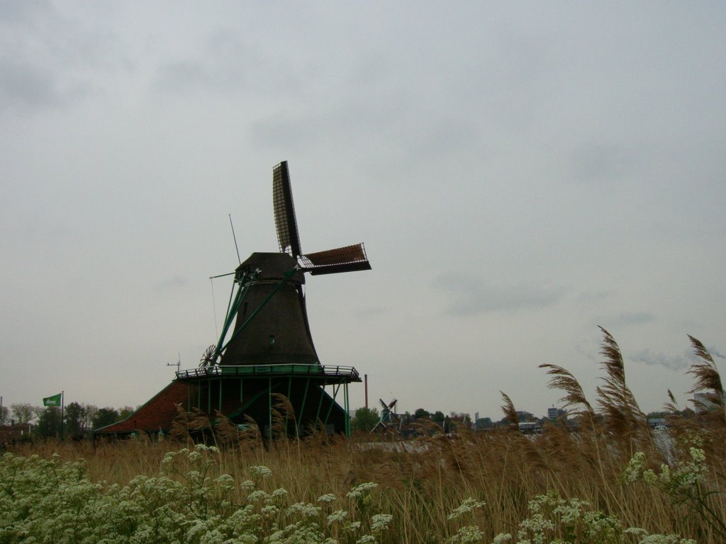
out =
[[(0, 395), (138, 405), (277, 251), (287, 160), (324, 364), (370, 402), (538, 416), (602, 336), (641, 408), (726, 372), (726, 4), (0, 2)], [(215, 323), (215, 315), (217, 325)], [(362, 384), (351, 406), (364, 403)], [(375, 405), (374, 404), (374, 405)]]

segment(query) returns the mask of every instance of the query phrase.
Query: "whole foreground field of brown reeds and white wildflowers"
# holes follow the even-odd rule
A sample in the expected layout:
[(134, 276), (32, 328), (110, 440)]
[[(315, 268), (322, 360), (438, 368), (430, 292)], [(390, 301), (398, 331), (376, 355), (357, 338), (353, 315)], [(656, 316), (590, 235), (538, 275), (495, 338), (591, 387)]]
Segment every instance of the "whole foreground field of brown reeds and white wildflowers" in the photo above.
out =
[[(597, 414), (573, 376), (547, 367), (579, 432), (464, 430), (408, 450), (322, 434), (265, 448), (224, 428), (212, 448), (181, 431), (17, 446), (0, 465), (0, 542), (725, 542), (723, 407), (654, 434), (616, 348), (606, 336)], [(692, 368), (697, 385), (714, 386), (709, 368)]]

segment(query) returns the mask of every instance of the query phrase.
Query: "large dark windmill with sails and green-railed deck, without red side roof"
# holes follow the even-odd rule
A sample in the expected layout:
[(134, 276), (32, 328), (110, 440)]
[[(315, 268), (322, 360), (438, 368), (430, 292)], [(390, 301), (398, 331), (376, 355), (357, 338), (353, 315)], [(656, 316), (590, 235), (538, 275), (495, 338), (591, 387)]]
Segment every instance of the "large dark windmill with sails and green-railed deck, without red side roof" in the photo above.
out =
[(349, 434), (348, 384), (361, 379), (351, 366), (320, 363), (303, 286), (306, 273), (370, 270), (370, 263), (362, 243), (303, 254), (287, 162), (272, 170), (272, 197), (280, 252), (256, 252), (240, 264), (219, 342), (207, 350), (200, 368), (177, 379), (189, 383), (192, 405), (238, 423), (251, 417), (265, 435), (272, 435), (278, 394), (294, 411), (286, 414), (289, 434), (321, 423), (329, 432)]

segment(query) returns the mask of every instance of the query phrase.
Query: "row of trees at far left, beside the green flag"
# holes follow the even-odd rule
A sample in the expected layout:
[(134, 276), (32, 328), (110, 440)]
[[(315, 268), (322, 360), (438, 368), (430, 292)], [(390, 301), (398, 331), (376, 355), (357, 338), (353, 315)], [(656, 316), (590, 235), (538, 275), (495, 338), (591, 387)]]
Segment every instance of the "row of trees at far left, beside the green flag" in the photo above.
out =
[(0, 407), (0, 426), (31, 425), (33, 434), (51, 438), (60, 434), (68, 437), (84, 436), (93, 429), (122, 421), (134, 412), (131, 406), (98, 408), (93, 404), (69, 403), (62, 411), (57, 406), (34, 406), (15, 403)]

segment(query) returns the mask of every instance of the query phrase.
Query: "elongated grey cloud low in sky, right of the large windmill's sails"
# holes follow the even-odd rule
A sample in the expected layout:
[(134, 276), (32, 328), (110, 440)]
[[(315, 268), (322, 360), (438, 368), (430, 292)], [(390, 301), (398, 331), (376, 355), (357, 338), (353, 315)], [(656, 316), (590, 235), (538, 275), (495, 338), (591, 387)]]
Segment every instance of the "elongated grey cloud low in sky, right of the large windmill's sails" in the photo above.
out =
[(561, 288), (528, 285), (492, 286), (473, 276), (441, 276), (436, 285), (454, 294), (448, 313), (474, 316), (478, 313), (543, 308), (556, 304)]

